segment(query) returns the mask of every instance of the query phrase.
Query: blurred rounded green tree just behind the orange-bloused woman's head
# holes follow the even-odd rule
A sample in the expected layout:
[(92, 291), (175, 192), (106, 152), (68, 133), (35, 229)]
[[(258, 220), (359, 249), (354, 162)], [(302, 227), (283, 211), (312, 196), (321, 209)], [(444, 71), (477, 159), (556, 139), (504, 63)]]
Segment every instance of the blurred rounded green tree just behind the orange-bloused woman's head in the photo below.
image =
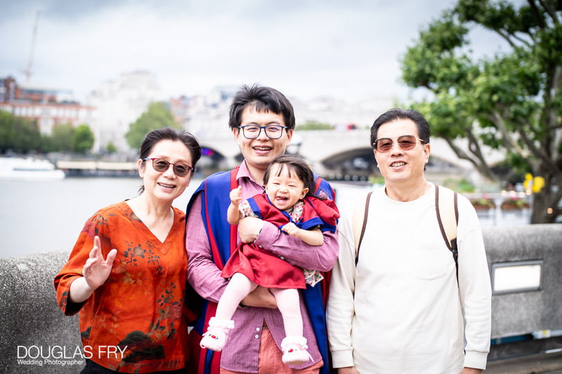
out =
[(152, 130), (164, 127), (181, 128), (175, 123), (172, 113), (166, 103), (150, 103), (146, 112), (130, 124), (128, 133), (125, 134), (127, 143), (133, 149), (138, 149), (144, 136)]

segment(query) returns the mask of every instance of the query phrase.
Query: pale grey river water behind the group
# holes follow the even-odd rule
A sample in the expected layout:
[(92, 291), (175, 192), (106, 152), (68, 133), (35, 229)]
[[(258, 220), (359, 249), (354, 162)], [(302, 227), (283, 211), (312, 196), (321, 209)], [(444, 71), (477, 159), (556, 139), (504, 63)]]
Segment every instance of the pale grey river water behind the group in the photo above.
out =
[[(174, 202), (185, 210), (201, 179), (194, 179)], [(332, 182), (336, 203), (346, 211), (370, 187)], [(66, 178), (55, 181), (0, 180), (0, 257), (52, 250), (70, 252), (85, 221), (101, 207), (137, 195), (140, 178)], [(482, 215), (482, 226), (525, 224), (526, 216)]]

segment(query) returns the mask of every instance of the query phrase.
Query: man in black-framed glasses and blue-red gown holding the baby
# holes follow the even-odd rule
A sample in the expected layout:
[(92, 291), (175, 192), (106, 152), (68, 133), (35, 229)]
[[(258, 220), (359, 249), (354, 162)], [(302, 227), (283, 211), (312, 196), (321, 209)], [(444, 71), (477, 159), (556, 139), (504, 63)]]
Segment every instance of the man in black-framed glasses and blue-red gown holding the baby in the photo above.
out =
[[(285, 153), (295, 129), (291, 103), (270, 87), (243, 87), (230, 107), (229, 126), (243, 162), (227, 173), (217, 173), (202, 182), (188, 205), (186, 219), (187, 278), (204, 299), (202, 316), (195, 323), (190, 340), (190, 373), (328, 373), (328, 341), (322, 286), (302, 290), (300, 310), (310, 359), (298, 366), (281, 361), (279, 349), (285, 335), (283, 319), (275, 298), (258, 287), (246, 296), (232, 317), (234, 329), (221, 352), (200, 349), (201, 334), (207, 331), (209, 317), (229, 280), (221, 277), (238, 242), (254, 243), (282, 260), (302, 269), (329, 271), (337, 257), (337, 236), (324, 235), (322, 246), (310, 246), (284, 235), (274, 224), (255, 217), (244, 218), (236, 226), (227, 222), (229, 192), (241, 187), (242, 198), (262, 193), (263, 176), (269, 164)], [(333, 190), (317, 178), (317, 194), (333, 199)], [(238, 238), (238, 235), (239, 238)], [(326, 284), (326, 282), (324, 282)], [(196, 350), (199, 350), (197, 352)]]

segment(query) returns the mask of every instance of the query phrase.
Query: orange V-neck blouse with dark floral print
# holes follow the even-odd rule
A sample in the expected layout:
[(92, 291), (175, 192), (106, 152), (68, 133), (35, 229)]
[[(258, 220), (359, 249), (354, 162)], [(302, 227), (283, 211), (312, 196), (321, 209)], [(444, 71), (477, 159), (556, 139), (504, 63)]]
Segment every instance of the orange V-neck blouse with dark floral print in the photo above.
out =
[[(109, 278), (84, 303), (71, 303), (70, 284), (82, 276), (94, 235), (103, 257), (117, 249)], [(60, 308), (79, 312), (85, 358), (114, 371), (148, 373), (182, 369), (188, 361), (185, 214), (161, 243), (124, 201), (86, 222), (69, 261), (55, 277)]]

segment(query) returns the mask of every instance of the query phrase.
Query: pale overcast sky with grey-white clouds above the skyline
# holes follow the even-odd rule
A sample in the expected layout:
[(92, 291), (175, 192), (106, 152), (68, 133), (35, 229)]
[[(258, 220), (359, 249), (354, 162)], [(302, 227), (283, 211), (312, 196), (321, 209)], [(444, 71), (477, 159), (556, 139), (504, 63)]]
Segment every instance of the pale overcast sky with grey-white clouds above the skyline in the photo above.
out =
[[(72, 90), (155, 73), (164, 98), (261, 83), (287, 96), (405, 97), (398, 59), (453, 0), (0, 0), (0, 77)], [(476, 33), (475, 50), (498, 49)]]

